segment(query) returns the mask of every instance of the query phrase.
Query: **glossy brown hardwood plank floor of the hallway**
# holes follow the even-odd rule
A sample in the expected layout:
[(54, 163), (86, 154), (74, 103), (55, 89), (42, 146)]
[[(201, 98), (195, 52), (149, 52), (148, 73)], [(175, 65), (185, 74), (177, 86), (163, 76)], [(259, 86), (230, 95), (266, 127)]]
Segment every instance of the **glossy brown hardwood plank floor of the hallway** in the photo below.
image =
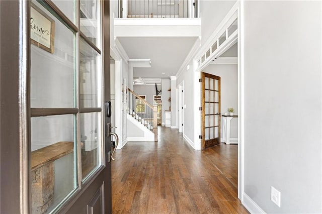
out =
[(249, 213), (237, 198), (237, 145), (196, 151), (175, 129), (128, 142), (112, 164), (113, 213)]

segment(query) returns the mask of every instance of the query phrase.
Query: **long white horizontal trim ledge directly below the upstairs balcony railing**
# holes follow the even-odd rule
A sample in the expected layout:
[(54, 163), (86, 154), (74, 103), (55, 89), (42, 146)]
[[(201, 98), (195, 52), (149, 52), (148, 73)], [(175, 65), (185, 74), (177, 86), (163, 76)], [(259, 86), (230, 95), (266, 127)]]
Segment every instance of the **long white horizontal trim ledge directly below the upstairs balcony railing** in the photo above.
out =
[(114, 26), (201, 26), (200, 18), (153, 18), (153, 19), (114, 19)]

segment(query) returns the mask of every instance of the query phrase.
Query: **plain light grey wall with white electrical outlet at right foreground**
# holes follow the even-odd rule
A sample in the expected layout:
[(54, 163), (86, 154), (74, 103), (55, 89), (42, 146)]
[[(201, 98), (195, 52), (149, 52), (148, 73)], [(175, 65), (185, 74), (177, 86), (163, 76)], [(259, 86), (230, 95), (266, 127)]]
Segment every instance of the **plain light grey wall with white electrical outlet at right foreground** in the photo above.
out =
[(245, 193), (321, 213), (321, 2), (246, 1), (244, 18)]

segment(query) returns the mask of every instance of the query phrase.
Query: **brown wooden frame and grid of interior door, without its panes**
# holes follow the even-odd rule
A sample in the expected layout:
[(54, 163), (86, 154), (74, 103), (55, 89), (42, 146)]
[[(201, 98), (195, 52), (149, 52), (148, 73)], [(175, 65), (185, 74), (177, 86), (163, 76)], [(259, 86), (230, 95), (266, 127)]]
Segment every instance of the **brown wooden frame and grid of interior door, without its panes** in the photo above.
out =
[[(218, 114), (213, 114), (214, 116), (218, 116), (218, 126), (207, 126), (207, 128), (215, 128), (218, 127), (218, 138), (213, 138), (210, 140), (205, 140), (205, 116), (207, 116), (207, 114), (205, 113), (205, 77), (210, 79), (216, 79), (218, 80), (218, 90), (211, 90), (211, 89), (207, 89), (209, 91), (218, 91), (218, 102), (211, 102), (210, 101), (210, 97), (208, 99), (208, 103), (218, 103)], [(202, 85), (202, 91), (201, 91), (201, 103), (202, 103), (202, 111), (201, 111), (201, 133), (202, 133), (202, 139), (201, 139), (201, 149), (206, 149), (208, 147), (211, 146), (215, 146), (215, 145), (219, 145), (220, 144), (220, 76), (215, 76), (209, 73), (204, 73), (201, 72), (201, 85)], [(210, 82), (208, 83), (208, 86), (210, 86)], [(213, 87), (215, 88), (215, 82), (213, 83)], [(210, 96), (210, 95), (209, 95)], [(210, 107), (209, 107), (210, 108)], [(215, 113), (215, 112), (214, 112)], [(209, 114), (208, 114), (209, 115)], [(214, 133), (215, 135), (215, 133)], [(210, 137), (210, 135), (209, 135)]]

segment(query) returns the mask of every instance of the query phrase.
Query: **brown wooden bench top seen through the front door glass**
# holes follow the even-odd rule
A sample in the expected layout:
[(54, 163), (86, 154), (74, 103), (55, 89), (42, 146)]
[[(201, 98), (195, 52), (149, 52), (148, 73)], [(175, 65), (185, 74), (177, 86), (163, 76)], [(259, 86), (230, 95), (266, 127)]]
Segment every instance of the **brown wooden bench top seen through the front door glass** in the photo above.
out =
[(31, 152), (31, 171), (53, 162), (74, 150), (74, 142), (58, 142)]

